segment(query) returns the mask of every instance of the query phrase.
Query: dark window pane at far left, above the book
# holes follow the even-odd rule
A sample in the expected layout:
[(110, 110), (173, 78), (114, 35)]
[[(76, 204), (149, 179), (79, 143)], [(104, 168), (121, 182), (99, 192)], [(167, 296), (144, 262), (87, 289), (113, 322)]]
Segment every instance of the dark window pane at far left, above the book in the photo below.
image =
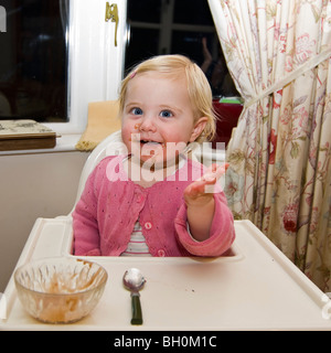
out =
[(2, 3), (0, 119), (66, 121), (68, 0)]

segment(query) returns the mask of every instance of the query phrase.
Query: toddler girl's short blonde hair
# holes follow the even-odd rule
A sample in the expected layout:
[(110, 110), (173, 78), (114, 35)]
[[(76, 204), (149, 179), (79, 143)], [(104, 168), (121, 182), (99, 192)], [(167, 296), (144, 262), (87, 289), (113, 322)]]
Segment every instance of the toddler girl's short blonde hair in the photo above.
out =
[(181, 73), (185, 73), (189, 97), (192, 103), (194, 118), (197, 120), (201, 117), (206, 117), (207, 121), (197, 137), (196, 141), (202, 142), (212, 140), (216, 131), (216, 115), (213, 109), (213, 96), (211, 86), (202, 72), (190, 58), (183, 55), (159, 55), (135, 66), (121, 82), (119, 93), (119, 114), (122, 114), (125, 108), (125, 99), (128, 83), (136, 75), (158, 72), (178, 77)]

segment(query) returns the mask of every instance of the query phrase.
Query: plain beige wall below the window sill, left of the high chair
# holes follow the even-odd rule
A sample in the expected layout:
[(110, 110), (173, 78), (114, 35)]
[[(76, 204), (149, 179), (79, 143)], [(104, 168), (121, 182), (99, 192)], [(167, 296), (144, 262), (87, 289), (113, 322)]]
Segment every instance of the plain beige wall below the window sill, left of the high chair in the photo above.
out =
[(67, 214), (88, 153), (0, 156), (0, 292), (38, 217)]

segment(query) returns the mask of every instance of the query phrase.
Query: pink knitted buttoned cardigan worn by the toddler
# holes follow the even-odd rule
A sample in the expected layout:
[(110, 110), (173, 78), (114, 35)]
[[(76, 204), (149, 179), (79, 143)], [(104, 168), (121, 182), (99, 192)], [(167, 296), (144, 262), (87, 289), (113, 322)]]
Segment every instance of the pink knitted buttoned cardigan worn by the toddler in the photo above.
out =
[(220, 256), (231, 247), (234, 222), (223, 192), (214, 194), (210, 237), (196, 242), (188, 232), (183, 191), (202, 175), (202, 164), (188, 160), (173, 175), (143, 189), (128, 179), (124, 158), (105, 158), (89, 175), (73, 212), (75, 255), (119, 256), (138, 218), (153, 256)]

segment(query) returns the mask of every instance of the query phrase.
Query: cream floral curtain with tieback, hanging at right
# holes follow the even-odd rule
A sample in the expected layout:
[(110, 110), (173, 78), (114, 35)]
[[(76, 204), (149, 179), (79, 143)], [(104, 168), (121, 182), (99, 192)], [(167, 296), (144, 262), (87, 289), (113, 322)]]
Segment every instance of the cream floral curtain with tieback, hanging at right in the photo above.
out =
[(245, 100), (225, 193), (331, 291), (331, 0), (209, 0)]

